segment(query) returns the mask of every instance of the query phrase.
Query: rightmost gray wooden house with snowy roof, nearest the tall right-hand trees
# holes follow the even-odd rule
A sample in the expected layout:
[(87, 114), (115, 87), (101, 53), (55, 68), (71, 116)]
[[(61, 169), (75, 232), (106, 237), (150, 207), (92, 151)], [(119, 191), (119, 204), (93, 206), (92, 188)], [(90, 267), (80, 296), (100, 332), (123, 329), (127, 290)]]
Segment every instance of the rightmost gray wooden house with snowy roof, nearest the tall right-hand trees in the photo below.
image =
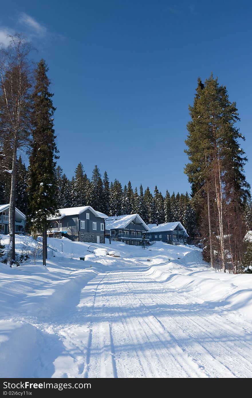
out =
[(156, 240), (166, 242), (170, 244), (174, 243), (186, 243), (186, 238), (189, 237), (186, 229), (180, 221), (177, 222), (165, 222), (164, 224), (148, 224), (150, 233), (147, 234), (147, 238), (150, 240)]

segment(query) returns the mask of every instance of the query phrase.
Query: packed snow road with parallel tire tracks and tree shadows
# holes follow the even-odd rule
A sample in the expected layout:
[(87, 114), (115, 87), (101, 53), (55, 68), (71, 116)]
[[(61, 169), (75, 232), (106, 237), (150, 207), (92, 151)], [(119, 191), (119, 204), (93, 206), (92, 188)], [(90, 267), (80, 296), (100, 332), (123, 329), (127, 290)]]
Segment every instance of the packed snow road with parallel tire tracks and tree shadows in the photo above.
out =
[[(160, 282), (147, 269), (98, 274), (68, 316), (43, 324), (29, 319), (47, 333), (48, 349), (50, 336), (52, 347), (56, 337), (62, 344), (51, 377), (252, 377), (251, 325), (199, 302), (193, 290), (169, 288), (175, 274)], [(41, 367), (48, 366), (44, 360)], [(43, 369), (36, 375), (43, 377)]]

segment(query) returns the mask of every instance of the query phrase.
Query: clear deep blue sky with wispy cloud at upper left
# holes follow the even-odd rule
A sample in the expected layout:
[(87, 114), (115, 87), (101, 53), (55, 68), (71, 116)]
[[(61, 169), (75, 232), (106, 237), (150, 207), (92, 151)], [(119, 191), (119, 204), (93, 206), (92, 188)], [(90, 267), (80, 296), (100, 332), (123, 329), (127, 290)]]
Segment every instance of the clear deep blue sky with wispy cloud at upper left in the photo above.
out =
[(236, 101), (252, 184), (248, 1), (5, 2), (0, 41), (23, 32), (55, 93), (59, 164), (165, 193), (190, 191), (183, 170), (188, 104), (211, 71)]

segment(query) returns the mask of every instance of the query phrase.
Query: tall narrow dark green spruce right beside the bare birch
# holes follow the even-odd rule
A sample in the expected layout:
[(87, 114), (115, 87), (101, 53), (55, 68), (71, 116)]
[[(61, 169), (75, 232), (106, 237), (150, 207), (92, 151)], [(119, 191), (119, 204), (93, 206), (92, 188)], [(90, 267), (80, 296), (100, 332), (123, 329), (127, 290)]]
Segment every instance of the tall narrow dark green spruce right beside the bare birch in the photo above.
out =
[(55, 107), (49, 92), (50, 81), (47, 77), (48, 67), (41, 59), (35, 70), (35, 89), (33, 94), (33, 142), (29, 165), (29, 220), (34, 233), (43, 231), (43, 265), (47, 258), (47, 226), (48, 218), (55, 215), (58, 209), (55, 191), (55, 159), (58, 150), (53, 129)]

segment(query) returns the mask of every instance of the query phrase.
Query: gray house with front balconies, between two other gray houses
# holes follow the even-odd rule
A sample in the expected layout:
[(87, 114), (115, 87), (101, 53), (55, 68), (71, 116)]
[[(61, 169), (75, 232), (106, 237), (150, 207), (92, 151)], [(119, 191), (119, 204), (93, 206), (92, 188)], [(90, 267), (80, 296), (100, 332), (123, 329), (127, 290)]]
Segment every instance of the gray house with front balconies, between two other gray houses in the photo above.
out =
[(106, 237), (128, 245), (139, 246), (147, 232), (150, 229), (138, 214), (113, 216), (106, 220)]

